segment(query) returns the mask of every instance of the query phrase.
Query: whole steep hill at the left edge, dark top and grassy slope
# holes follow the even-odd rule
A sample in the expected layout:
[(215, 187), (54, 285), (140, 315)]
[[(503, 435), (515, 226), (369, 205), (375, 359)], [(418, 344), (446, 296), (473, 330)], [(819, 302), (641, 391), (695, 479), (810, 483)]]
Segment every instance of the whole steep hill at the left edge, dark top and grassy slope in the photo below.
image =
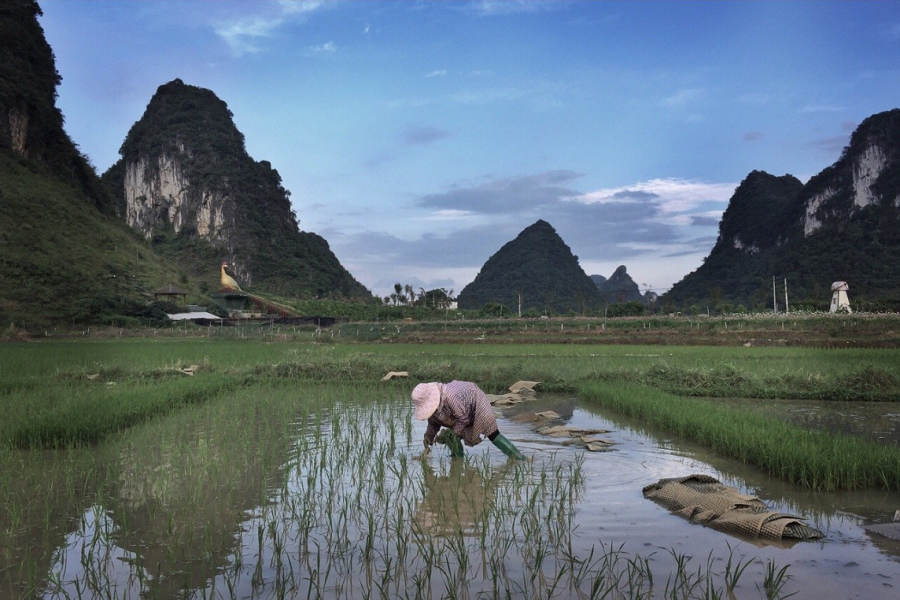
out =
[(63, 130), (53, 51), (31, 0), (0, 4), (0, 326), (151, 324), (165, 284), (196, 290), (113, 217)]

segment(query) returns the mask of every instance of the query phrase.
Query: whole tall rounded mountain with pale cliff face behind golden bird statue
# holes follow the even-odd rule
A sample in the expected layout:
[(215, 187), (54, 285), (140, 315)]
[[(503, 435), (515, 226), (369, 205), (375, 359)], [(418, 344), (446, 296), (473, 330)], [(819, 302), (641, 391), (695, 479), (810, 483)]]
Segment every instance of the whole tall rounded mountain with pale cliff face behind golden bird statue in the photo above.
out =
[(118, 213), (194, 276), (214, 279), (225, 260), (250, 289), (373, 300), (322, 237), (300, 231), (278, 171), (247, 154), (212, 91), (161, 85), (120, 154), (103, 175)]

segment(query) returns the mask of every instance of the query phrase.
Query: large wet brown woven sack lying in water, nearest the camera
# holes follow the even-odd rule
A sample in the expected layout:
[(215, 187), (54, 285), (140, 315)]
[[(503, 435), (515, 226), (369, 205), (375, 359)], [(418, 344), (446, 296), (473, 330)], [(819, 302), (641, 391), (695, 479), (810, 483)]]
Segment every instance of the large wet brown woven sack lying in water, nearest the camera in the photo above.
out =
[(764, 540), (814, 540), (825, 537), (800, 517), (774, 512), (756, 496), (742, 494), (709, 475), (660, 479), (644, 488), (644, 497), (692, 523), (723, 533)]

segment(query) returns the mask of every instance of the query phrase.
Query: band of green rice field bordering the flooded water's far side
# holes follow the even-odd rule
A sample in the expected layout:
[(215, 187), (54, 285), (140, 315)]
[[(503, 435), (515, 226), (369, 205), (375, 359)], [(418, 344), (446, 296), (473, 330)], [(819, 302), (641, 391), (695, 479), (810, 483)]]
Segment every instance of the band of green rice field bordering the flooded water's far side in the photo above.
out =
[[(237, 389), (333, 382), (405, 388), (464, 379), (500, 392), (531, 379), (546, 391), (602, 400), (801, 485), (900, 489), (895, 449), (691, 398), (898, 401), (897, 350), (162, 339), (7, 344), (0, 357), (9, 367), (0, 381), (0, 441), (9, 448), (94, 444)], [(380, 382), (388, 371), (408, 371), (410, 379)]]

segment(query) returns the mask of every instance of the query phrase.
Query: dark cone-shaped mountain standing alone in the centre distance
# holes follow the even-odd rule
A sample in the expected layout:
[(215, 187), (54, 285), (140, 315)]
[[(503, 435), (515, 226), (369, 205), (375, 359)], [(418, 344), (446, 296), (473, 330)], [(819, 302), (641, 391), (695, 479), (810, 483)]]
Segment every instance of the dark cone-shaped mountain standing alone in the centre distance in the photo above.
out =
[(490, 303), (522, 311), (588, 311), (600, 306), (594, 282), (556, 230), (544, 220), (526, 227), (484, 263), (457, 301), (462, 309)]

